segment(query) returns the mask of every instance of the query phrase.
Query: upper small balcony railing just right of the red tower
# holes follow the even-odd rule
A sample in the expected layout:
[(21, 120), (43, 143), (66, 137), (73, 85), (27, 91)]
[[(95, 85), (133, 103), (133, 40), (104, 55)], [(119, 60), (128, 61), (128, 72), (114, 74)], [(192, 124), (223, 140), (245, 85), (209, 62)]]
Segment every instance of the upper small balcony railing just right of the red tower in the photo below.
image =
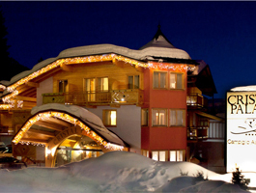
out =
[(199, 94), (187, 94), (186, 105), (191, 108), (203, 108), (208, 106), (208, 99)]

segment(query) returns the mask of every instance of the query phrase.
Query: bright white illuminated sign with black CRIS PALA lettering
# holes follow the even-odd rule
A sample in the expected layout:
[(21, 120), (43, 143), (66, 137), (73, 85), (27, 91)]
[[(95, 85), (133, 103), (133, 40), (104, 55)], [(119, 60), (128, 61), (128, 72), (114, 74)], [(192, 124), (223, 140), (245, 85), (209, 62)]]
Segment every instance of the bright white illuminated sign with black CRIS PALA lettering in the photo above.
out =
[(256, 91), (227, 93), (227, 172), (256, 172)]

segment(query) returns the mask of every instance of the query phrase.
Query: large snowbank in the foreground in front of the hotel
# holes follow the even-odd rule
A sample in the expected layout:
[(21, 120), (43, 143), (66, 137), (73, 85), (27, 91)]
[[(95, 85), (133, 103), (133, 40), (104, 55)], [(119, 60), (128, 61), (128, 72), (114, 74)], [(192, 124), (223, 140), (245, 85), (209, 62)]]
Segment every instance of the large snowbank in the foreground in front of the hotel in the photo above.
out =
[[(181, 172), (192, 177), (181, 177)], [(218, 180), (194, 182), (198, 172)], [(133, 152), (107, 152), (59, 168), (0, 170), (0, 191), (242, 192), (239, 186), (219, 180), (225, 178), (188, 162), (158, 162)]]

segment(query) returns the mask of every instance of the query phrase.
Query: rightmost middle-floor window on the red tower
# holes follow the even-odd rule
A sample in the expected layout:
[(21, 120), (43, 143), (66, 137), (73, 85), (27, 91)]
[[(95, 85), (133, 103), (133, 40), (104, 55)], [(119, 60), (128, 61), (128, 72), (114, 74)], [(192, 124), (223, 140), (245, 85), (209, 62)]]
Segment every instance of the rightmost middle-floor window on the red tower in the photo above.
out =
[(185, 110), (184, 109), (170, 110), (170, 126), (185, 126)]

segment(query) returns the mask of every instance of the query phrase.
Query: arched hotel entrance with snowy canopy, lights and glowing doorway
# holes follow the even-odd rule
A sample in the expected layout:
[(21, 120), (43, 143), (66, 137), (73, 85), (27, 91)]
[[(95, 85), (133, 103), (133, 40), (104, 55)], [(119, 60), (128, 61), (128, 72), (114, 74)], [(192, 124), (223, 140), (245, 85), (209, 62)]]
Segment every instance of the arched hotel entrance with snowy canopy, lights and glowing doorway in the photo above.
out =
[(58, 163), (57, 156), (61, 154), (70, 163), (101, 152), (124, 151), (124, 148), (127, 151), (123, 140), (104, 127), (98, 116), (80, 106), (45, 104), (33, 108), (32, 114), (13, 142), (43, 145), (46, 167), (65, 164), (65, 158), (59, 158)]

